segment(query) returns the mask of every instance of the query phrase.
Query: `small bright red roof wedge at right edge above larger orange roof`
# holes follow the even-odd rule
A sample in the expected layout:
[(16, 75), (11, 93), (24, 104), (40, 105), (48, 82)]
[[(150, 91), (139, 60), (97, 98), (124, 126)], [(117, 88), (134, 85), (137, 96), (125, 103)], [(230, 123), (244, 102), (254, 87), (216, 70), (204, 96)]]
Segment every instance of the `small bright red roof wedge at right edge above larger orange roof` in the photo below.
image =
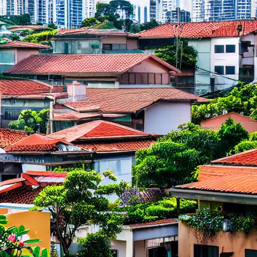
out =
[(211, 163), (257, 167), (257, 149), (251, 149), (243, 153), (227, 156), (218, 160), (211, 161)]

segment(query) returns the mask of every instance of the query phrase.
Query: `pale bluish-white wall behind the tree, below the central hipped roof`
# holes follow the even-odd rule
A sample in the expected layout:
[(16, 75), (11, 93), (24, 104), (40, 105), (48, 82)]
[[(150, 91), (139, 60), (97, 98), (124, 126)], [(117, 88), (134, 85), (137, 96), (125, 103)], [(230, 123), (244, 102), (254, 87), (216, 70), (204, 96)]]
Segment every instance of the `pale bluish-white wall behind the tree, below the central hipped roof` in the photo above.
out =
[(117, 181), (112, 181), (108, 178), (104, 178), (99, 185), (107, 185), (112, 183), (119, 183), (121, 180), (125, 182), (132, 182), (132, 164), (133, 156), (115, 156), (108, 158), (96, 159), (94, 163), (94, 170), (101, 175), (106, 170), (112, 170), (117, 177)]

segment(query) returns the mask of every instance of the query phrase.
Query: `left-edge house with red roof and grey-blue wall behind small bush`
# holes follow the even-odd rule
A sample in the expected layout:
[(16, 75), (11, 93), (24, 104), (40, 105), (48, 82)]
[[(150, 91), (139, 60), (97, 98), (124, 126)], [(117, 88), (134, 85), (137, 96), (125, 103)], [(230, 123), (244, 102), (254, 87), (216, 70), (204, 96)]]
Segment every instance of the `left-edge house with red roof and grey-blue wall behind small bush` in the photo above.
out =
[(63, 89), (47, 83), (20, 78), (0, 79), (1, 122), (7, 128), (11, 121), (18, 119), (24, 109), (40, 111), (50, 108), (50, 102), (68, 97)]

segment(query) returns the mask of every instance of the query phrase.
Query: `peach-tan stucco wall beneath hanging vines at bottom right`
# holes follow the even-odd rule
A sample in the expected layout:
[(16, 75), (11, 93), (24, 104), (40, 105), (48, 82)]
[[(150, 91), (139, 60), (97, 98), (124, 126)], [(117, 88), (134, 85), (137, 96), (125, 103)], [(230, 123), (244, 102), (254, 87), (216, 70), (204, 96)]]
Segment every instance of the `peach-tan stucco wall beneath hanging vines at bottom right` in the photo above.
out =
[[(256, 243), (257, 231), (245, 235), (243, 232), (236, 233), (224, 233), (221, 232), (214, 240), (208, 240), (208, 245), (219, 246), (219, 253), (222, 252), (234, 252), (233, 257), (244, 256), (245, 249), (257, 250)], [(194, 257), (194, 244), (202, 244), (197, 241), (196, 236), (193, 234), (193, 230), (189, 229), (187, 225), (179, 222), (179, 256), (181, 257)]]

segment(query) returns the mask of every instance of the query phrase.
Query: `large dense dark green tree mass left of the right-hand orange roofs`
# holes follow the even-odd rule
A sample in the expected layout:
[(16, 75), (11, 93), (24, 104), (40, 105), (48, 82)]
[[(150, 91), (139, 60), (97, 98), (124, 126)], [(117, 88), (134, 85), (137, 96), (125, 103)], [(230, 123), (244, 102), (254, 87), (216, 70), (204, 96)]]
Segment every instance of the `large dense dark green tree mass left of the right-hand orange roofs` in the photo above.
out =
[(226, 156), (249, 135), (240, 123), (228, 118), (218, 132), (202, 130), (191, 122), (136, 153), (133, 175), (140, 188), (169, 188), (195, 180), (195, 169)]

